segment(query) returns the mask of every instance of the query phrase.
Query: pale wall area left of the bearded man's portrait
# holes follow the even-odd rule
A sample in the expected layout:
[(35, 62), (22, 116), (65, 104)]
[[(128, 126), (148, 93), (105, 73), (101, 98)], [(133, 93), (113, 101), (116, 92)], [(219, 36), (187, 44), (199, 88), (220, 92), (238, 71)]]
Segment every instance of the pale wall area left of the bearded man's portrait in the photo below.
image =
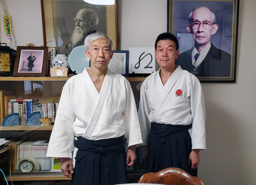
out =
[[(44, 45), (40, 0), (4, 0), (4, 5), (11, 16), (15, 45), (26, 46), (28, 43), (35, 46)], [(7, 33), (4, 33), (2, 0), (0, 7), (0, 41), (16, 50)]]

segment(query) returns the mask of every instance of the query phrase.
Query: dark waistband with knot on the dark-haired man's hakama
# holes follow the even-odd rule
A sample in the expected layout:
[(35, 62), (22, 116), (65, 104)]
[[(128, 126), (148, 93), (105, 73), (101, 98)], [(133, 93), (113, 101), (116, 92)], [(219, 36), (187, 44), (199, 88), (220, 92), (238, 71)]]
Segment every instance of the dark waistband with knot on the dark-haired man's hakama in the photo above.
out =
[(155, 134), (159, 134), (161, 141), (164, 142), (167, 136), (170, 136), (173, 133), (184, 132), (192, 127), (190, 125), (166, 125), (166, 124), (156, 124), (155, 122), (151, 123), (151, 131)]

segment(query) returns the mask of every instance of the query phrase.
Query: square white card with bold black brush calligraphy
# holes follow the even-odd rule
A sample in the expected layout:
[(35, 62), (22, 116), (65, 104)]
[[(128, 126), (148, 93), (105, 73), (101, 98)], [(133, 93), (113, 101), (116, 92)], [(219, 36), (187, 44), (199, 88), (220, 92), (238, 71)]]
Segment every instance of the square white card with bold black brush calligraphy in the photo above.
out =
[(129, 53), (129, 74), (156, 71), (154, 47), (129, 47)]

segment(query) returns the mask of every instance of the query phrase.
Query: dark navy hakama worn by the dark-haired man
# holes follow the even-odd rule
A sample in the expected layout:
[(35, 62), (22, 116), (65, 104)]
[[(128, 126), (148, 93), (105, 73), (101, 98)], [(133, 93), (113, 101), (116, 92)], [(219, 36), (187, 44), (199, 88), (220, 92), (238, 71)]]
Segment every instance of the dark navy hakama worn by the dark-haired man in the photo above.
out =
[(190, 125), (151, 124), (149, 135), (149, 172), (166, 168), (180, 168), (197, 176), (197, 169), (188, 167), (192, 143), (188, 129)]

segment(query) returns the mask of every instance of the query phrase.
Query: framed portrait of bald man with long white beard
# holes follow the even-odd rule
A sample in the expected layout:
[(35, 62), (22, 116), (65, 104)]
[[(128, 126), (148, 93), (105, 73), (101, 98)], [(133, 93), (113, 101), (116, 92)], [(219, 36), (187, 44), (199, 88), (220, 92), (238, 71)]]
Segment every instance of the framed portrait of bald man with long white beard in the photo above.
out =
[(114, 5), (89, 4), (83, 0), (41, 0), (47, 47), (57, 54), (70, 54), (84, 44), (87, 35), (103, 32), (117, 50), (117, 1)]

